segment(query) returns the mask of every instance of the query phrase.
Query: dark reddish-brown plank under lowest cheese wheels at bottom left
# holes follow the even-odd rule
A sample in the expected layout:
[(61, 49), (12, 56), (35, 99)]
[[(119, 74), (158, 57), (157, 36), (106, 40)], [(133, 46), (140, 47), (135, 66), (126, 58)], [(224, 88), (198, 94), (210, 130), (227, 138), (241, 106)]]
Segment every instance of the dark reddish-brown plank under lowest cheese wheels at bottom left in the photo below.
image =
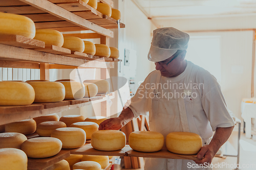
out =
[(41, 170), (41, 169), (47, 168), (53, 165), (54, 163), (57, 163), (69, 156), (70, 156), (69, 151), (61, 150), (57, 155), (49, 158), (43, 158), (43, 159), (28, 158), (28, 170), (29, 169)]

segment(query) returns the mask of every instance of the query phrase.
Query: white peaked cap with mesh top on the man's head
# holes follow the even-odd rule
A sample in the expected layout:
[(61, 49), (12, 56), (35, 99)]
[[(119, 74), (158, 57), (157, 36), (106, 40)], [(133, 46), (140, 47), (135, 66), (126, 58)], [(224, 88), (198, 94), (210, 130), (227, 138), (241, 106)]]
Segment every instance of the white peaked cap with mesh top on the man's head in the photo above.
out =
[(150, 52), (150, 61), (163, 61), (173, 56), (178, 50), (187, 50), (189, 35), (173, 27), (154, 30)]

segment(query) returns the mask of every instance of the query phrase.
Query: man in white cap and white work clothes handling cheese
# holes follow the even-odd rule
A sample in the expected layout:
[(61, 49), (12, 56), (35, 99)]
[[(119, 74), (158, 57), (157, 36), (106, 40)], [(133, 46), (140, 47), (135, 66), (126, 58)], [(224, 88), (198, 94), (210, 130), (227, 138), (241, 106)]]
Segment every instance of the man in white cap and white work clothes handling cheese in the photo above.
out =
[(202, 160), (145, 158), (146, 170), (210, 169), (206, 165), (234, 127), (215, 77), (184, 60), (188, 40), (188, 34), (174, 28), (154, 30), (148, 60), (155, 62), (156, 70), (146, 77), (119, 117), (99, 126), (100, 130), (119, 130), (134, 117), (149, 112), (151, 131), (164, 137), (170, 132), (193, 132), (202, 137), (203, 147), (197, 154), (200, 159), (204, 157)]

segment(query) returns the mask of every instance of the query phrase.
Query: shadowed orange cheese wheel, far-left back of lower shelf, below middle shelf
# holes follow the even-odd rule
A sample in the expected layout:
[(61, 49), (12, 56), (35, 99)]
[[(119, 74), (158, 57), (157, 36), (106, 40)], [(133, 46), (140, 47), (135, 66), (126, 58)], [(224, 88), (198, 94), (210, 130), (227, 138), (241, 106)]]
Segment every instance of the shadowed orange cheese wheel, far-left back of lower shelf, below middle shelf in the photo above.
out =
[(36, 122), (33, 119), (26, 119), (5, 125), (5, 132), (17, 132), (24, 135), (32, 134), (36, 131)]

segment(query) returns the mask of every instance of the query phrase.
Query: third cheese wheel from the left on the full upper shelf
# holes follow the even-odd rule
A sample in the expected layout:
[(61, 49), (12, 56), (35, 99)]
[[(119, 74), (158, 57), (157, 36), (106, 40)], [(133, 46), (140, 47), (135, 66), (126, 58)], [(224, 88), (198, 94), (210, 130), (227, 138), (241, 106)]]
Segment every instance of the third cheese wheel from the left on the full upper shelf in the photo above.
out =
[(80, 53), (84, 51), (83, 40), (78, 37), (64, 36), (64, 43), (62, 47)]

